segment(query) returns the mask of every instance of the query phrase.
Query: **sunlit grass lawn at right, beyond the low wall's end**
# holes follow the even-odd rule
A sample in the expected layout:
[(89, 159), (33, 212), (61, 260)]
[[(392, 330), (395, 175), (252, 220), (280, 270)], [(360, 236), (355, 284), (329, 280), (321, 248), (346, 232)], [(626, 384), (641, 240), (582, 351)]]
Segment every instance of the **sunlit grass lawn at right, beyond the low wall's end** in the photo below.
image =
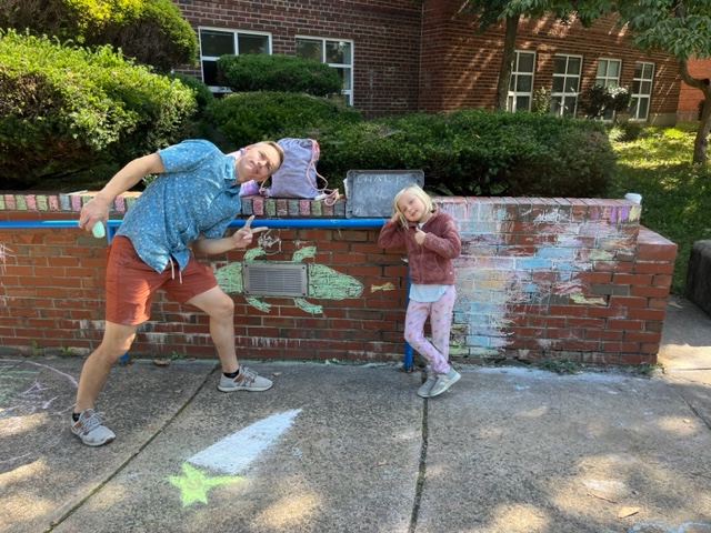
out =
[(618, 177), (608, 198), (627, 192), (642, 195), (642, 225), (674, 242), (679, 249), (671, 292), (685, 294), (687, 266), (693, 243), (711, 239), (711, 173), (692, 164), (698, 123), (647, 128), (631, 142), (613, 142)]

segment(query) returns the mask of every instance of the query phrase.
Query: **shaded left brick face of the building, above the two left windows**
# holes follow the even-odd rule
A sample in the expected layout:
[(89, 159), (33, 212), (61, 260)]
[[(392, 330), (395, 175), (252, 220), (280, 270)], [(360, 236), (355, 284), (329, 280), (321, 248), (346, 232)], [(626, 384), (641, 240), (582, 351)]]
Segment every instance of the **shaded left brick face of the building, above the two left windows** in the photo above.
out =
[(174, 2), (193, 26), (272, 34), (272, 53), (296, 54), (296, 37), (354, 41), (353, 93), (368, 115), (399, 114), (417, 107), (420, 11), (412, 0)]

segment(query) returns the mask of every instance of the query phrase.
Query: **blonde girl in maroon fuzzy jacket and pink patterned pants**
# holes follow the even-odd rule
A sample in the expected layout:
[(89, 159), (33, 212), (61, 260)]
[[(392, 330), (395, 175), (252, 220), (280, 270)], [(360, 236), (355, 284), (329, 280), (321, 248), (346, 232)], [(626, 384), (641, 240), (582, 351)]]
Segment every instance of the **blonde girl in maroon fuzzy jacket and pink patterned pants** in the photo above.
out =
[[(428, 378), (418, 390), (422, 398), (442, 394), (461, 375), (449, 365), (449, 333), (454, 308), (452, 259), (461, 252), (454, 220), (432, 204), (418, 185), (402, 189), (392, 201), (393, 215), (378, 238), (382, 248), (404, 244), (410, 265), (410, 303), (405, 314), (404, 340), (427, 361)], [(432, 342), (424, 338), (430, 318)]]

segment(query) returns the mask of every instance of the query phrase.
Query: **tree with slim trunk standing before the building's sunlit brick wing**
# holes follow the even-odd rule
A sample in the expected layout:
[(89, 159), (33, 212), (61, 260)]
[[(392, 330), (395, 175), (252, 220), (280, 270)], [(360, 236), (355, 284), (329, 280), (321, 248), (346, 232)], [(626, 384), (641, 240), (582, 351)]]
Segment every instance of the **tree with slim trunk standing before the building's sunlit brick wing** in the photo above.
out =
[(577, 18), (583, 26), (588, 27), (604, 13), (604, 10), (600, 8), (599, 0), (467, 0), (463, 11), (478, 16), (478, 31), (483, 32), (501, 20), (505, 23), (503, 58), (499, 69), (494, 109), (507, 109), (511, 72), (513, 71), (513, 60), (515, 58), (515, 38), (521, 17), (537, 19), (545, 13), (553, 13), (558, 19), (567, 22), (580, 9), (581, 11)]

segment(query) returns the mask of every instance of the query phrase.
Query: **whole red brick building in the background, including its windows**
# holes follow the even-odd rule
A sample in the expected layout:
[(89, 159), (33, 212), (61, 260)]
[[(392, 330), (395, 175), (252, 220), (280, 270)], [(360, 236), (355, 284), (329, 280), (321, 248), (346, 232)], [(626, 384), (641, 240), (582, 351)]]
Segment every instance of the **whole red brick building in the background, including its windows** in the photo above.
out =
[[(219, 56), (284, 53), (338, 69), (344, 99), (367, 117), (494, 104), (504, 31), (477, 33), (475, 17), (458, 1), (174, 1), (200, 40), (200, 67), (190, 72), (218, 92)], [(601, 83), (632, 91), (632, 120), (677, 120), (674, 59), (630, 47), (613, 18), (590, 29), (522, 20), (515, 49), (511, 110), (530, 108), (545, 89), (553, 112), (573, 114), (578, 94)]]

